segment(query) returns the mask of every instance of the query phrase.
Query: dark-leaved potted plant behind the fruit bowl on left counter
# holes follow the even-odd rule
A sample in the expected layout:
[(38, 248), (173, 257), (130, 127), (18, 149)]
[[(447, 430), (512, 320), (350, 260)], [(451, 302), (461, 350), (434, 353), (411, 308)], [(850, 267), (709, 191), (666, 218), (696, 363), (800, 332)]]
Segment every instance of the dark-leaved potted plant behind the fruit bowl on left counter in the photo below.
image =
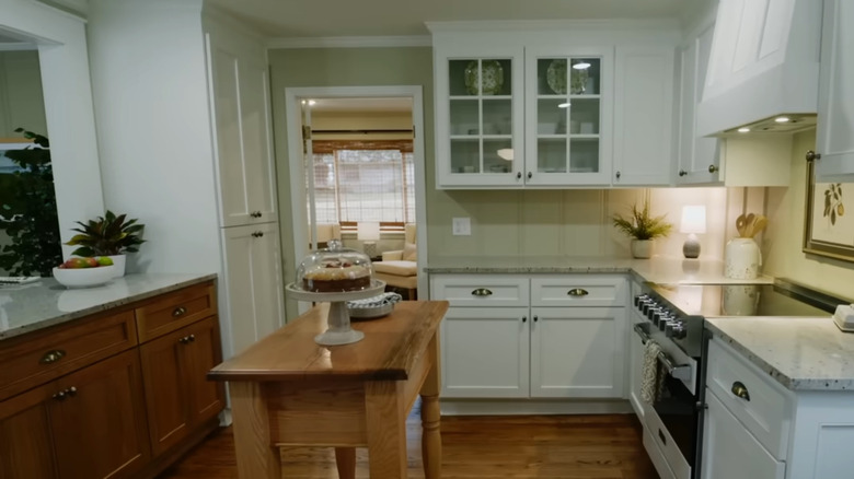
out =
[(118, 268), (118, 276), (125, 276), (125, 254), (136, 253), (139, 245), (145, 243), (142, 230), (145, 224), (138, 220), (127, 220), (127, 214), (116, 215), (112, 211), (103, 217), (89, 220), (83, 223), (78, 221), (80, 227), (68, 243), (69, 246), (80, 246), (71, 254), (77, 256), (108, 256)]

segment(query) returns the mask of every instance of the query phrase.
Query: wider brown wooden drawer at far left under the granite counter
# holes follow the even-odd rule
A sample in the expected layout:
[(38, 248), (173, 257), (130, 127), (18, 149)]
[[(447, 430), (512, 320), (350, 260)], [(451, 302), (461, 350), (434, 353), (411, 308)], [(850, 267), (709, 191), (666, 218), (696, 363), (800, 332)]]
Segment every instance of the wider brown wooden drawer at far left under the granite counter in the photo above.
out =
[(134, 312), (48, 328), (0, 344), (0, 400), (137, 344)]

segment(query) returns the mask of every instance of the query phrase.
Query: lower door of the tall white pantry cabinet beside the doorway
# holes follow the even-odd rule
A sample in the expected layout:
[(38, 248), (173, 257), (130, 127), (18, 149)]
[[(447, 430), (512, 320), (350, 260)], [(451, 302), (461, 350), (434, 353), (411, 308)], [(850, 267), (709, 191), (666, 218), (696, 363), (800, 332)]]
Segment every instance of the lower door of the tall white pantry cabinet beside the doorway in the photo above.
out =
[[(222, 230), (231, 353), (285, 324), (278, 223)], [(226, 353), (228, 354), (228, 349)]]

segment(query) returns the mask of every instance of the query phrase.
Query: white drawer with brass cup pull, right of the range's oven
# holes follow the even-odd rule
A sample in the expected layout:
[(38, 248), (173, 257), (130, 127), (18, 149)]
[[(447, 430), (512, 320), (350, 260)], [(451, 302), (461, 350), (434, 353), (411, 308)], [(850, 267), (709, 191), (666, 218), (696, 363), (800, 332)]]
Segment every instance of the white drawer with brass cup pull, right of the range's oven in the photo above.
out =
[[(786, 388), (717, 338), (708, 344), (706, 385), (774, 457), (785, 460), (794, 416)], [(747, 390), (749, 399), (737, 395), (739, 388)]]

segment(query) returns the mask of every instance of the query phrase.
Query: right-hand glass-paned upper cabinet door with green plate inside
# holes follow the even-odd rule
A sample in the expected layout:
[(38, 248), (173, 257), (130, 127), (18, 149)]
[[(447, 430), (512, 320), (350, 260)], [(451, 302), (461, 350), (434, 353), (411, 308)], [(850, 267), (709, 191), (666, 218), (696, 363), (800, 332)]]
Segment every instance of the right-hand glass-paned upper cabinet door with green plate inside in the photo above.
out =
[(526, 183), (609, 185), (611, 50), (526, 54)]

